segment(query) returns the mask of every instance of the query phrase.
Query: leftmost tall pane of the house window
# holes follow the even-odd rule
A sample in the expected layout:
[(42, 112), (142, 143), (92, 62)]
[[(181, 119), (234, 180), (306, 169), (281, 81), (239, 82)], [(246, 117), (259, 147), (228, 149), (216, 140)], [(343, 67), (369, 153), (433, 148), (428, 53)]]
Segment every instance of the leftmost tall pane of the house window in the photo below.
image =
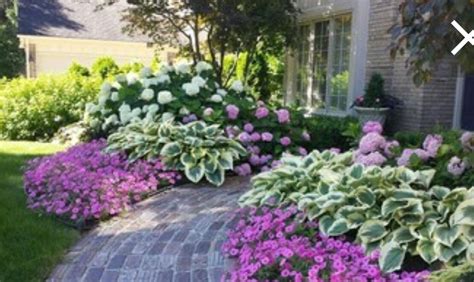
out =
[(297, 69), (296, 69), (296, 94), (298, 102), (307, 105), (308, 79), (309, 79), (309, 25), (299, 28), (301, 43), (297, 50)]

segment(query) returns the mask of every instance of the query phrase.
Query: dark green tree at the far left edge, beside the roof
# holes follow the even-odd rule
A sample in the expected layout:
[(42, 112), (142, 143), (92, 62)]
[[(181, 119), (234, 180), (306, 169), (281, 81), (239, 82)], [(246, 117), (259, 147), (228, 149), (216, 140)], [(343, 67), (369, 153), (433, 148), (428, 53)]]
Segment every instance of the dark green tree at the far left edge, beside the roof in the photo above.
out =
[(24, 54), (19, 48), (17, 8), (13, 0), (0, 2), (0, 78), (15, 77), (24, 67)]

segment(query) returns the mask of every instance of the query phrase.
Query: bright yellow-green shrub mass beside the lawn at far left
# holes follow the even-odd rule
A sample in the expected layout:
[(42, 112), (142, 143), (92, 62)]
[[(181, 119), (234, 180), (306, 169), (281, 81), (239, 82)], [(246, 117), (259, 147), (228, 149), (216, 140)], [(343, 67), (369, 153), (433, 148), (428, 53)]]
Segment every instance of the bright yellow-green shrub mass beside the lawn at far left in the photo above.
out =
[(100, 81), (81, 76), (18, 78), (0, 86), (0, 138), (47, 140), (79, 121)]

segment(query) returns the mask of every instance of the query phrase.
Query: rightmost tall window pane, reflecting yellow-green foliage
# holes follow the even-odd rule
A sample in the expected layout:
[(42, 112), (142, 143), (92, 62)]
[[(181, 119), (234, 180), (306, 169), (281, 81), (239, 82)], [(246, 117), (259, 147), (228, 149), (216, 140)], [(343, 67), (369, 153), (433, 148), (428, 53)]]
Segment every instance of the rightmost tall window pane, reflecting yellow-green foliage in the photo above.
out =
[(351, 15), (334, 19), (334, 49), (332, 50), (329, 105), (335, 110), (347, 109), (349, 93), (349, 62), (351, 51)]

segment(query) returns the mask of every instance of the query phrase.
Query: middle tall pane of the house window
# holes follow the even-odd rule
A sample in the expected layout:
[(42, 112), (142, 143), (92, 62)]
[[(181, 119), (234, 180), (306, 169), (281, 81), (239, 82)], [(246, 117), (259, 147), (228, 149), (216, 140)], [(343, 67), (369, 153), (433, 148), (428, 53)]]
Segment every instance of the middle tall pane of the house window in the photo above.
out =
[(314, 26), (312, 106), (324, 107), (329, 51), (329, 21)]

